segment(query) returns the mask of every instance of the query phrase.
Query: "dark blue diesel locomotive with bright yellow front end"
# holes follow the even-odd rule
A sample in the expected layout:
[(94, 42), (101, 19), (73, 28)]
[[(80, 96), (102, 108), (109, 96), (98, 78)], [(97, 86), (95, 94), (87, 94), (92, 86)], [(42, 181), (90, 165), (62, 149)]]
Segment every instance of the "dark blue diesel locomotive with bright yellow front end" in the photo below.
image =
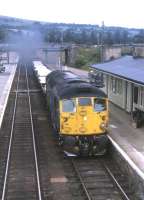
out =
[(107, 95), (70, 71), (46, 78), (46, 98), (53, 128), (64, 150), (103, 155), (107, 150)]

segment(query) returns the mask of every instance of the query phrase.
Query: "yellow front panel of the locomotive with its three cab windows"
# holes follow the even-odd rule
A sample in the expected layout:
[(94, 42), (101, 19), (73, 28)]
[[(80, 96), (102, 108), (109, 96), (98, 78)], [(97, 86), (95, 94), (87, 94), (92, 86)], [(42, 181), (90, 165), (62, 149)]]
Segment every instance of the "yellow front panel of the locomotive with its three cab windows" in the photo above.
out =
[(107, 131), (108, 100), (79, 97), (60, 101), (60, 133), (100, 135)]

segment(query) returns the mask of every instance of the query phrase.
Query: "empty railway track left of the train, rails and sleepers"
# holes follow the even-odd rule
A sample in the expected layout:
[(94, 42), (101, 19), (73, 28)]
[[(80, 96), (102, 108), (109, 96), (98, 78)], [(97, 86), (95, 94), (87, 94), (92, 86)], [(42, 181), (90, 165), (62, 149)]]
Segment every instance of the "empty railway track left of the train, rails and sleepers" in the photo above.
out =
[[(42, 199), (27, 67), (19, 65), (1, 133), (1, 199)], [(14, 94), (15, 93), (15, 94)], [(7, 111), (6, 111), (7, 113)], [(6, 124), (7, 123), (7, 126)], [(5, 134), (5, 135), (4, 135)], [(1, 142), (2, 143), (2, 142)], [(4, 145), (5, 144), (5, 145)]]

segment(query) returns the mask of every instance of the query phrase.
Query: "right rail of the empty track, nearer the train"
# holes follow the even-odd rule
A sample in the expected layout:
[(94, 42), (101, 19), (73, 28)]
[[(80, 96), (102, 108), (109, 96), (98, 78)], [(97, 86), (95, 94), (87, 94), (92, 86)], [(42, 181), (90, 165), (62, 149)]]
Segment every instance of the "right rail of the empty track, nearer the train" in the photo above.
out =
[(31, 129), (32, 129), (32, 139), (33, 139), (33, 150), (34, 150), (34, 158), (35, 158), (38, 195), (39, 195), (39, 200), (41, 200), (42, 199), (42, 194), (41, 194), (40, 176), (39, 176), (39, 169), (38, 169), (38, 158), (37, 158), (37, 152), (36, 152), (36, 141), (35, 141), (35, 136), (34, 136), (32, 106), (31, 106), (30, 89), (29, 89), (29, 81), (28, 81), (28, 74), (27, 74), (26, 66), (25, 66), (25, 70), (26, 70), (26, 82), (27, 82), (27, 90), (28, 90), (28, 101), (29, 101), (29, 111), (30, 111), (30, 119), (31, 119)]

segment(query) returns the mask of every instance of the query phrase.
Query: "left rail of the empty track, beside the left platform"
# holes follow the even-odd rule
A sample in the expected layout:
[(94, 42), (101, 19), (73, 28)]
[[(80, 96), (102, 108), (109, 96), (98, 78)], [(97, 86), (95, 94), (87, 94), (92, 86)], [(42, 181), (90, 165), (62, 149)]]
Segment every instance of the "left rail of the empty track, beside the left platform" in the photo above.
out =
[(14, 110), (13, 110), (13, 116), (12, 116), (12, 125), (11, 125), (11, 132), (10, 132), (10, 140), (9, 140), (9, 147), (8, 147), (8, 153), (7, 153), (6, 171), (5, 171), (5, 175), (4, 175), (4, 184), (3, 184), (3, 190), (2, 190), (1, 200), (5, 199), (5, 193), (6, 193), (6, 184), (7, 184), (7, 177), (8, 177), (10, 156), (11, 156), (11, 146), (12, 146), (12, 139), (13, 139), (15, 114), (16, 114), (16, 107), (17, 107), (19, 79), (20, 79), (20, 68), (19, 68), (19, 72), (18, 72), (18, 80), (17, 80), (17, 86), (16, 86), (16, 96), (15, 96), (15, 102), (14, 102)]

